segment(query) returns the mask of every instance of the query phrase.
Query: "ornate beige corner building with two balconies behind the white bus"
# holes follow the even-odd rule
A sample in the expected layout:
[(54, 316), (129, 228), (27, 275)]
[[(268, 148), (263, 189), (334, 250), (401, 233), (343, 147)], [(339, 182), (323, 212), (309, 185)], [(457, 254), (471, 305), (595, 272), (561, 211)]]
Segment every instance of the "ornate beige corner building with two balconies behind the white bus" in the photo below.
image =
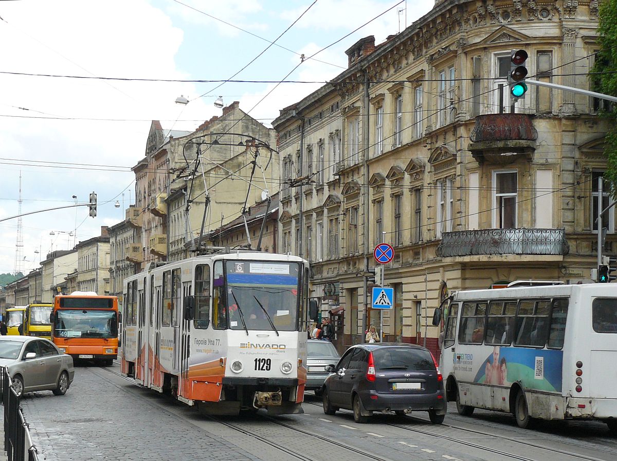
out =
[[(433, 310), (449, 291), (521, 279), (578, 283), (597, 255), (604, 102), (529, 85), (510, 103), (513, 49), (528, 78), (592, 89), (597, 1), (442, 1), (281, 110), (280, 249), (312, 262), (312, 294), (362, 341), (373, 248), (394, 309), (387, 340), (436, 349)], [(615, 249), (615, 212), (605, 253)], [(426, 340), (425, 340), (426, 338)]]

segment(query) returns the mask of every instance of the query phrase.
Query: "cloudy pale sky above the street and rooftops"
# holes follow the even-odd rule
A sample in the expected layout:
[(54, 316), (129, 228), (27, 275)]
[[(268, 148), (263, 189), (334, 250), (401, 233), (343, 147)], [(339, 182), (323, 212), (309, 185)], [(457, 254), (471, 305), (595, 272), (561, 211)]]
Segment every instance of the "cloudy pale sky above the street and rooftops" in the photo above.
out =
[[(213, 102), (222, 96), (269, 123), (320, 85), (283, 83), (268, 94), (276, 83), (267, 82), (329, 80), (346, 67), (344, 51), (355, 41), (375, 35), (380, 43), (431, 7), (432, 0), (0, 0), (0, 220), (19, 213), (20, 176), (22, 214), (48, 210), (22, 218), (19, 268), (27, 273), (52, 249), (123, 219), (151, 120), (193, 131), (220, 114)], [(315, 57), (301, 62), (302, 54)], [(233, 78), (258, 83), (225, 82), (245, 66)], [(180, 95), (188, 105), (174, 104)], [(73, 196), (86, 203), (93, 191), (96, 218), (87, 206), (56, 209), (75, 204)], [(0, 222), (0, 273), (15, 270), (17, 221)]]

